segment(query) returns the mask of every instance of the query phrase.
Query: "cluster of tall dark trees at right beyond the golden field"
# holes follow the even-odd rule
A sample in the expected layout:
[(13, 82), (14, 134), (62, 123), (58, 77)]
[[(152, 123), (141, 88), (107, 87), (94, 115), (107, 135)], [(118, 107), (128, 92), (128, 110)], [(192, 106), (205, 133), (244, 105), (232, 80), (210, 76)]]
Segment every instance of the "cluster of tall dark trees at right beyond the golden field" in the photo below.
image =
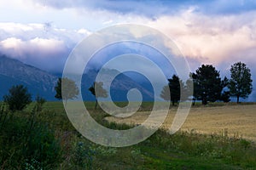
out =
[(200, 100), (202, 105), (218, 100), (230, 102), (230, 97), (236, 97), (236, 102), (239, 103), (240, 98), (246, 99), (253, 90), (250, 69), (241, 62), (231, 65), (230, 80), (227, 77), (221, 79), (219, 71), (213, 65), (201, 65), (194, 73), (190, 73), (189, 77), (187, 82), (183, 82), (173, 75), (168, 79), (168, 85), (163, 88), (160, 97), (171, 100), (172, 105), (175, 105), (181, 100), (181, 91), (190, 90), (188, 87), (192, 83), (193, 95), (187, 96), (187, 99), (193, 99), (193, 105), (195, 100)]

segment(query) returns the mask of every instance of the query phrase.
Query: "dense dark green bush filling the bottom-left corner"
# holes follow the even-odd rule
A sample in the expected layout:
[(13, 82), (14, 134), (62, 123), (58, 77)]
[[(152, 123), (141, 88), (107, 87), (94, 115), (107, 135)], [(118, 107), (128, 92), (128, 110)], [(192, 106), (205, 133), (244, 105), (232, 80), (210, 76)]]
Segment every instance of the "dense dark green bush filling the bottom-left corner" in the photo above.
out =
[(24, 115), (15, 114), (0, 129), (0, 167), (55, 169), (61, 161), (61, 144), (55, 138), (55, 132), (46, 123), (36, 122), (32, 118), (35, 114), (28, 119)]

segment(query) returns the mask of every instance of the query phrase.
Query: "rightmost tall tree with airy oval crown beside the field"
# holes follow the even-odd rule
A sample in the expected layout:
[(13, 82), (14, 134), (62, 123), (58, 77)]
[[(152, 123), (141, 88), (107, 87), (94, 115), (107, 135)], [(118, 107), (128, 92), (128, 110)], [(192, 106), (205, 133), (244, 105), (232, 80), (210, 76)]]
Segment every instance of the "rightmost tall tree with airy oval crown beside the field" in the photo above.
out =
[(239, 103), (240, 98), (246, 99), (252, 93), (251, 71), (246, 64), (237, 62), (231, 65), (230, 74), (230, 95), (236, 97), (236, 101)]

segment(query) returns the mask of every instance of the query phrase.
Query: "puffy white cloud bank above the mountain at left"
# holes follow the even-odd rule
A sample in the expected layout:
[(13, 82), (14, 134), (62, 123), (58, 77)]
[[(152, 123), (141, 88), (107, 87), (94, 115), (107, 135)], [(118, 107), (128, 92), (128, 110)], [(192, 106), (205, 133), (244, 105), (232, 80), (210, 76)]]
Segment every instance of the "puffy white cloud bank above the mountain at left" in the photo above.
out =
[(73, 47), (89, 34), (86, 29), (67, 30), (50, 23), (0, 23), (0, 54), (47, 71), (61, 71)]

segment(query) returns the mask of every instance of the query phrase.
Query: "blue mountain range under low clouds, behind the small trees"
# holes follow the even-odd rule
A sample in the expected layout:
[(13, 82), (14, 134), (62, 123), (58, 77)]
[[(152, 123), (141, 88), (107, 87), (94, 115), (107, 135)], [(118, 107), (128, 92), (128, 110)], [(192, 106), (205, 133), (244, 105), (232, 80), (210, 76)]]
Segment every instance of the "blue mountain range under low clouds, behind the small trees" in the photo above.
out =
[[(86, 71), (81, 82), (81, 90), (84, 100), (95, 100), (95, 97), (90, 94), (88, 88), (95, 82), (96, 70)], [(104, 81), (108, 81), (111, 74), (115, 72), (119, 75), (111, 83), (110, 96), (114, 101), (126, 101), (126, 94), (131, 88), (137, 88), (143, 95), (143, 100), (153, 100), (154, 91), (150, 83), (137, 82), (131, 77), (116, 70), (104, 71)], [(11, 59), (7, 56), (0, 56), (0, 100), (4, 94), (8, 94), (9, 88), (14, 85), (22, 84), (34, 99), (37, 94), (47, 100), (55, 99), (55, 85), (58, 77), (62, 74), (53, 74), (47, 71), (42, 71), (32, 65), (26, 65), (17, 59)]]

